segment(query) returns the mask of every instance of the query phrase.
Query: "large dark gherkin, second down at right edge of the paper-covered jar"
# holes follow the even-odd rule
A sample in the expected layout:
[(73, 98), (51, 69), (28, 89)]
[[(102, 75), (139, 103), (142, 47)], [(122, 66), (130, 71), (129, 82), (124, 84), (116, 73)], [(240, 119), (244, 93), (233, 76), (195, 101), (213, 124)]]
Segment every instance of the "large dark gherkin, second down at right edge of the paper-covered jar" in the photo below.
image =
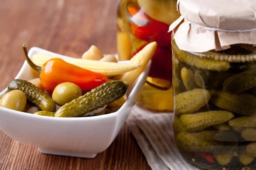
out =
[(250, 94), (229, 94), (216, 90), (211, 90), (210, 92), (211, 102), (219, 108), (241, 115), (253, 115), (256, 113), (256, 97)]

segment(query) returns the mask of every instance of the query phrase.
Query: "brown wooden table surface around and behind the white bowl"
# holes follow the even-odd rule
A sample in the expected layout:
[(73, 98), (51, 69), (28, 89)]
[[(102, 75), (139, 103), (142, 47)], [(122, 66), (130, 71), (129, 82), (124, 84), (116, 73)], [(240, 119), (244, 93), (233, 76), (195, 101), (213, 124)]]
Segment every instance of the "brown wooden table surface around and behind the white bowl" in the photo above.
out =
[[(0, 0), (0, 91), (23, 62), (22, 45), (81, 57), (90, 45), (116, 53), (118, 0)], [(124, 125), (95, 159), (54, 156), (20, 144), (0, 130), (1, 170), (150, 170)]]

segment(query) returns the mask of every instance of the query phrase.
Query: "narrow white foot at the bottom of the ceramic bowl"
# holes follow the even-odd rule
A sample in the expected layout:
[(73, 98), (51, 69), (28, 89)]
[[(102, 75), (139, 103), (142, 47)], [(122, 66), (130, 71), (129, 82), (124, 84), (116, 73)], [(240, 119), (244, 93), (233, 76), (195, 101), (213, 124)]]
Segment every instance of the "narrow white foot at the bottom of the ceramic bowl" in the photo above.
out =
[(73, 156), (79, 158), (95, 158), (97, 153), (79, 153), (79, 152), (70, 152), (63, 150), (52, 150), (46, 148), (38, 148), (41, 153), (51, 154), (51, 155), (60, 155), (60, 156)]

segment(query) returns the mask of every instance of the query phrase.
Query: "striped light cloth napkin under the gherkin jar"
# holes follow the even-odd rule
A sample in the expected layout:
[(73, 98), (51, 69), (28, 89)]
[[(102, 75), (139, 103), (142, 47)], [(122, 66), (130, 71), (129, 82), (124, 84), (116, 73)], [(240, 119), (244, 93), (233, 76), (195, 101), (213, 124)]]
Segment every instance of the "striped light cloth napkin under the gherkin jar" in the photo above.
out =
[(172, 113), (152, 113), (134, 106), (127, 124), (152, 170), (199, 170), (187, 163), (177, 150)]

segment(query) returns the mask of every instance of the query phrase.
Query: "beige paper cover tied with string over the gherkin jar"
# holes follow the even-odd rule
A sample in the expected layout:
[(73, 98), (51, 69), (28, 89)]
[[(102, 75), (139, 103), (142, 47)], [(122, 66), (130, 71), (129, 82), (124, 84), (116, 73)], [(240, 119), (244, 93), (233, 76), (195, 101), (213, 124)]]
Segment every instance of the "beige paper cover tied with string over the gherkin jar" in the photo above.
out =
[(184, 51), (221, 51), (256, 44), (255, 0), (178, 0), (181, 17), (169, 28)]

